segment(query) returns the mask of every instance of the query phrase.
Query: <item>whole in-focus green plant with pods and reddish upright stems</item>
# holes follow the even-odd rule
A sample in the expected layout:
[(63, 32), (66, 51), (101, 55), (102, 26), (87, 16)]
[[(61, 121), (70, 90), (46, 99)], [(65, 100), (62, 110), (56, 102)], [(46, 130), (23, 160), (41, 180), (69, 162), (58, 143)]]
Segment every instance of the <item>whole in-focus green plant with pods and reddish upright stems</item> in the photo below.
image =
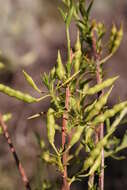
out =
[[(51, 104), (47, 111), (43, 110), (29, 117), (29, 119), (40, 116), (43, 118), (46, 113), (47, 137), (52, 150), (49, 145), (43, 143), (43, 139), (40, 139), (41, 159), (57, 167), (63, 181), (62, 190), (69, 190), (74, 181), (82, 180), (87, 176), (89, 176), (89, 190), (103, 190), (104, 159), (109, 156), (115, 157), (116, 153), (127, 147), (127, 134), (119, 144), (114, 138), (114, 132), (127, 113), (127, 101), (109, 108), (108, 97), (118, 76), (103, 79), (103, 65), (114, 55), (120, 45), (123, 36), (122, 25), (120, 29), (115, 25), (112, 26), (109, 41), (105, 45), (104, 24), (90, 19), (93, 0), (88, 5), (84, 0), (62, 0), (62, 2), (63, 9), (59, 8), (59, 10), (66, 28), (67, 61), (63, 64), (58, 51), (56, 65), (48, 74), (44, 73), (41, 77), (47, 87), (45, 96), (42, 96), (41, 89), (25, 71), (23, 71), (25, 79), (40, 94), (39, 98), (3, 84), (0, 84), (0, 91), (27, 103), (38, 103), (45, 98), (50, 98)], [(74, 50), (71, 48), (69, 32), (72, 20), (77, 26)], [(105, 49), (107, 55), (102, 58)], [(110, 89), (106, 91), (109, 87)], [(56, 146), (56, 132), (61, 136), (59, 146)], [(71, 149), (74, 145), (76, 148), (72, 153)], [(81, 158), (80, 151), (87, 155)], [(80, 164), (77, 171), (70, 174), (68, 166), (71, 167), (72, 161)], [(94, 180), (95, 176), (98, 177), (97, 183)], [(50, 183), (43, 182), (43, 190), (51, 188), (53, 189)]]

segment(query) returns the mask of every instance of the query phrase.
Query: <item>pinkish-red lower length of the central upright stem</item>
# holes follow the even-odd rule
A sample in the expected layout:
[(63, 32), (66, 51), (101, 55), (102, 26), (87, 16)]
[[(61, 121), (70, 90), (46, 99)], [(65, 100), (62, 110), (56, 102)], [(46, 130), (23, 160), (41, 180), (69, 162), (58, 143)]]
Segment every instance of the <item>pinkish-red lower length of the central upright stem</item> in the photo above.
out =
[[(67, 86), (66, 98), (65, 98), (66, 110), (68, 110), (68, 106), (69, 106), (69, 96), (70, 96), (70, 91), (69, 91), (69, 87)], [(62, 148), (63, 148), (63, 150), (65, 148), (65, 143), (66, 143), (66, 130), (67, 130), (67, 113), (65, 112), (63, 114), (63, 123), (62, 123)], [(66, 151), (63, 153), (62, 161), (63, 161), (63, 167), (64, 167), (64, 171), (62, 174), (62, 177), (63, 177), (62, 190), (70, 190), (70, 186), (68, 183), (68, 174), (67, 174), (67, 152)]]

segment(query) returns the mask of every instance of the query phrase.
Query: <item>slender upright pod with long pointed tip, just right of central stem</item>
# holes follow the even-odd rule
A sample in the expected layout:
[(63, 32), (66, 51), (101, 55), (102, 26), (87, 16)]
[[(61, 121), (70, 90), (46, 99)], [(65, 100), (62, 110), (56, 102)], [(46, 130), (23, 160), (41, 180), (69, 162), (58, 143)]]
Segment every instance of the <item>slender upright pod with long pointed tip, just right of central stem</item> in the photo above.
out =
[(80, 59), (81, 59), (82, 51), (81, 51), (81, 43), (79, 32), (77, 33), (77, 42), (75, 44), (75, 57), (74, 57), (74, 72), (78, 72), (80, 68)]

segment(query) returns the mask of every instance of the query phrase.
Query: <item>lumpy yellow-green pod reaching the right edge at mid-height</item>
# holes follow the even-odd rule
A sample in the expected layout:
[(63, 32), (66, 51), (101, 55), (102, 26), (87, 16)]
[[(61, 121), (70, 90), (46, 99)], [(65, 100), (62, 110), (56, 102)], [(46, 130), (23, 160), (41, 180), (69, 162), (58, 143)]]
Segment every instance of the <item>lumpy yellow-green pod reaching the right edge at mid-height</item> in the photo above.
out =
[(120, 104), (116, 104), (112, 109), (106, 110), (104, 113), (95, 117), (92, 121), (92, 125), (96, 126), (99, 123), (103, 123), (107, 118), (111, 118), (115, 116), (116, 113), (120, 112), (127, 106), (127, 101), (122, 102)]

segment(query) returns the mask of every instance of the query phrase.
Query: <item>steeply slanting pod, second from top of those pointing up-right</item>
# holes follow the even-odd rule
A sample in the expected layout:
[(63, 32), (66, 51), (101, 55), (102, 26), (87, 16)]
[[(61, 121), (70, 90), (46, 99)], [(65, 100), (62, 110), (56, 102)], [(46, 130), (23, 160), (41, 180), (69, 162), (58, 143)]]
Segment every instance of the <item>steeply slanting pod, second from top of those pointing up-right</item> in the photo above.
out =
[(107, 103), (107, 100), (108, 100), (109, 94), (111, 93), (111, 90), (112, 90), (112, 87), (105, 95), (100, 97), (100, 99), (98, 100), (97, 103), (95, 103), (92, 111), (89, 112), (87, 118), (85, 119), (86, 122), (90, 121), (94, 116), (99, 114), (99, 112), (101, 111), (103, 106)]

